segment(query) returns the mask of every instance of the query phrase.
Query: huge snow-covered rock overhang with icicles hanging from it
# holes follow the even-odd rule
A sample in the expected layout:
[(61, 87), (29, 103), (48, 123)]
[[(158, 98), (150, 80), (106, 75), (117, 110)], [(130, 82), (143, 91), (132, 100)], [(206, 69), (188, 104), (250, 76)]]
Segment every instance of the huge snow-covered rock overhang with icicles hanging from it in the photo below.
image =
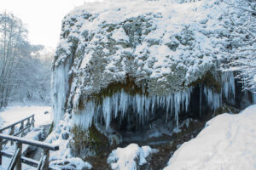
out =
[(245, 36), (220, 7), (232, 12), (205, 0), (89, 3), (67, 14), (53, 66), (55, 123), (67, 113), (76, 127), (94, 123), (105, 134), (165, 122), (170, 131), (178, 116), (217, 111), (235, 98), (233, 73), (218, 72), (224, 52), (244, 41), (230, 32)]

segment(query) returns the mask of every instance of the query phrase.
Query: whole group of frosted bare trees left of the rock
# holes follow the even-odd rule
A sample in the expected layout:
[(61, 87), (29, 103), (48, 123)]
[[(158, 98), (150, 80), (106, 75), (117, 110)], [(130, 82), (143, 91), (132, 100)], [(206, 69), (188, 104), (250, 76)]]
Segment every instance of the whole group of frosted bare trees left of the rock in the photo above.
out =
[(49, 100), (50, 65), (40, 59), (41, 45), (31, 45), (22, 21), (0, 14), (0, 109), (9, 101)]

